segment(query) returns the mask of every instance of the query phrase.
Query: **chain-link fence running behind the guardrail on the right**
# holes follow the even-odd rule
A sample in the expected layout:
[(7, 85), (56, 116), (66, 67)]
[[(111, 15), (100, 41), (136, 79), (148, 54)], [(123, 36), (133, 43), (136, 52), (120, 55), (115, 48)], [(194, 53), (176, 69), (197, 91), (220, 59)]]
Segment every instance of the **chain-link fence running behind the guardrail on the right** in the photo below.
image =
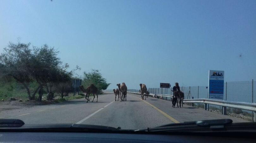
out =
[[(256, 89), (256, 81), (238, 81), (238, 82), (225, 82), (224, 83), (224, 95), (223, 100), (236, 101), (236, 102), (256, 102), (256, 93), (253, 90)], [(173, 95), (171, 88), (148, 88), (148, 91), (153, 94), (168, 94)], [(198, 99), (198, 98), (208, 98), (208, 86), (186, 86), (180, 87), (180, 90), (184, 92), (185, 99)], [(140, 92), (139, 89), (129, 89), (131, 92)], [(171, 100), (170, 98), (165, 98), (165, 100)], [(204, 108), (204, 104), (194, 104), (196, 107)], [(215, 112), (222, 112), (222, 107), (216, 105), (208, 105), (208, 110)], [(241, 109), (227, 108), (228, 115), (242, 116), (242, 118), (247, 120), (253, 120), (252, 113), (249, 111), (244, 111)], [(236, 115), (233, 115), (236, 114)], [(249, 117), (249, 118), (247, 118)]]

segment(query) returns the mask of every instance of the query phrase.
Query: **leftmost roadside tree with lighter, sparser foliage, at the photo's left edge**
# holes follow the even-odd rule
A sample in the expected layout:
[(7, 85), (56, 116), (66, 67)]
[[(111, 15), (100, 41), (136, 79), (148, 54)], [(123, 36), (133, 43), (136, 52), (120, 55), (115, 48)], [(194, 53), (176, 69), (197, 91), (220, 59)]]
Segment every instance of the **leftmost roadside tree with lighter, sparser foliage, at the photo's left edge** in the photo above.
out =
[(13, 77), (21, 83), (27, 90), (28, 99), (31, 100), (31, 91), (28, 85), (33, 81), (33, 77), (29, 72), (33, 62), (33, 53), (29, 47), (30, 43), (21, 43), (19, 39), (17, 44), (9, 42), (0, 55), (0, 63), (2, 76)]

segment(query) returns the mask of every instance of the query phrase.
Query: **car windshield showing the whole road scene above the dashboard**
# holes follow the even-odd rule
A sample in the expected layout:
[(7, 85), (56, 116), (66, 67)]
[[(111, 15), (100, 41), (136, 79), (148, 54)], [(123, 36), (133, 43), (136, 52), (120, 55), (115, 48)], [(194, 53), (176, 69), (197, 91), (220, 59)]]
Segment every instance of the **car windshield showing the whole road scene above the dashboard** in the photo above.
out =
[(0, 119), (255, 122), (256, 1), (1, 0)]

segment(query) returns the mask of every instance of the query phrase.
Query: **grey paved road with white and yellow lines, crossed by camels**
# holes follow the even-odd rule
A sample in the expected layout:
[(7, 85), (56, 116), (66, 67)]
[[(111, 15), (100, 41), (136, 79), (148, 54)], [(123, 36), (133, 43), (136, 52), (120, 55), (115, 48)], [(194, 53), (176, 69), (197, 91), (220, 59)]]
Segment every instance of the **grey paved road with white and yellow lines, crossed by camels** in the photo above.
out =
[(233, 122), (248, 122), (200, 108), (184, 105), (172, 108), (170, 101), (127, 94), (127, 101), (114, 101), (114, 94), (99, 96), (98, 102), (76, 99), (69, 102), (35, 106), (0, 112), (0, 118), (17, 118), (25, 124), (94, 124), (122, 129), (143, 129), (169, 123), (230, 118)]

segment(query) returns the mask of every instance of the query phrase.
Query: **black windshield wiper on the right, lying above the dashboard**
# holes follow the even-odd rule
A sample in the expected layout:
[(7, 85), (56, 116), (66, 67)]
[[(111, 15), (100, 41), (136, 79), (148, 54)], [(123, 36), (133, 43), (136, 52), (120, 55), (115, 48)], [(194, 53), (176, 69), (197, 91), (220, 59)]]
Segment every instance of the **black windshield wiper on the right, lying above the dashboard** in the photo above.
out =
[(195, 129), (224, 129), (225, 125), (232, 124), (231, 119), (201, 120), (184, 123), (174, 123), (157, 126), (154, 128), (141, 129), (137, 131), (182, 131)]

